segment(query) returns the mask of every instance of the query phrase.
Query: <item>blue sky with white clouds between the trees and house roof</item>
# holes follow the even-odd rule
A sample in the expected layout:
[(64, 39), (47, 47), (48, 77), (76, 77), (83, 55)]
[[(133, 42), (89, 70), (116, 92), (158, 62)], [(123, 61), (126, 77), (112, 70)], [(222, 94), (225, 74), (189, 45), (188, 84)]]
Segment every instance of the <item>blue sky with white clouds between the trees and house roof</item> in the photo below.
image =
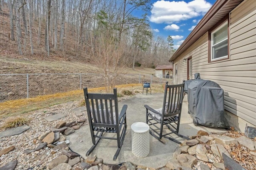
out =
[[(167, 39), (171, 35), (174, 48), (188, 37), (216, 0), (151, 0), (148, 16), (154, 35)], [(167, 40), (166, 40), (167, 41)]]

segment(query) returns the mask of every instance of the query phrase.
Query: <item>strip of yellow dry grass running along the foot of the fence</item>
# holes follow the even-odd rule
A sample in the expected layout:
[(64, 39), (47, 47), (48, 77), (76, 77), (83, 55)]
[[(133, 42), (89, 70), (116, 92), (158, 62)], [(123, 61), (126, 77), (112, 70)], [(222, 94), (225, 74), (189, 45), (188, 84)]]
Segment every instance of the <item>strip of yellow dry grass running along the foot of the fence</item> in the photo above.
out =
[[(116, 88), (118, 92), (122, 94), (122, 91), (130, 91), (132, 94), (142, 92), (141, 84), (123, 84), (117, 85)], [(152, 92), (163, 92), (162, 85), (152, 86)], [(90, 88), (88, 92), (105, 92), (103, 87), (101, 88)], [(133, 93), (134, 92), (134, 93)], [(126, 94), (127, 95), (127, 94)], [(119, 96), (122, 97), (122, 96)], [(26, 115), (31, 111), (38, 109), (47, 108), (54, 106), (56, 104), (62, 104), (70, 101), (79, 101), (81, 100), (81, 106), (84, 106), (84, 93), (83, 90), (74, 90), (65, 93), (57, 93), (45, 96), (38, 96), (36, 98), (20, 99), (20, 100), (11, 100), (8, 102), (0, 103), (0, 121), (3, 119), (18, 115)], [(79, 107), (79, 106), (78, 106)]]

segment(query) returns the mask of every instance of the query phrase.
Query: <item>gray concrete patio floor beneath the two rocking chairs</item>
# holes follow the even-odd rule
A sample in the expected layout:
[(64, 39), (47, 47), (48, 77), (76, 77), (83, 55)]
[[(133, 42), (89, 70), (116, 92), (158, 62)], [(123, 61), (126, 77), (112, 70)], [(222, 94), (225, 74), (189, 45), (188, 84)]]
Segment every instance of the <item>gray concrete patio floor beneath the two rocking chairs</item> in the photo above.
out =
[[(118, 103), (119, 109), (122, 109), (124, 104), (128, 105), (127, 113), (127, 124), (128, 128), (126, 131), (126, 136), (122, 149), (119, 153), (116, 161), (113, 161), (113, 156), (117, 149), (116, 140), (101, 139), (100, 143), (94, 149), (94, 151), (89, 156), (96, 155), (98, 158), (102, 158), (104, 163), (109, 164), (118, 164), (122, 162), (133, 162), (137, 165), (143, 165), (147, 167), (158, 168), (164, 166), (168, 160), (172, 158), (172, 155), (175, 149), (179, 146), (177, 143), (169, 141), (166, 138), (163, 138), (165, 143), (160, 143), (157, 139), (150, 135), (150, 153), (146, 158), (138, 158), (132, 154), (132, 140), (131, 140), (131, 125), (134, 122), (146, 121), (146, 109), (145, 104), (148, 106), (158, 109), (162, 107), (163, 102), (162, 93), (152, 93), (148, 94), (137, 94), (132, 96), (122, 102)], [(199, 130), (208, 132), (224, 132), (225, 129), (219, 128), (210, 128), (205, 126), (194, 126), (192, 123), (192, 117), (188, 114), (188, 102), (187, 95), (185, 95), (182, 105), (182, 117), (180, 122), (180, 131), (179, 133), (185, 136), (196, 135)], [(166, 130), (168, 130), (166, 128)], [(172, 135), (173, 138), (182, 142), (184, 139)], [(89, 125), (85, 125), (78, 129), (76, 133), (66, 136), (66, 140), (70, 141), (70, 149), (74, 152), (77, 152), (82, 156), (82, 158), (87, 158), (86, 152), (92, 146), (92, 140), (90, 135)]]

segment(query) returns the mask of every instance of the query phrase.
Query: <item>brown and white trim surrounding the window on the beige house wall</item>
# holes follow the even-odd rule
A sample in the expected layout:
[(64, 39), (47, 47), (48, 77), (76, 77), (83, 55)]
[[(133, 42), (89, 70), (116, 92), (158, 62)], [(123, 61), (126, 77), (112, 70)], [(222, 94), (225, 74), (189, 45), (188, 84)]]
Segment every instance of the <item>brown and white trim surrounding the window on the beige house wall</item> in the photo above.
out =
[[(228, 56), (219, 57), (217, 59), (212, 59), (212, 33), (215, 33), (219, 29), (221, 29), (224, 25), (228, 23)], [(213, 63), (216, 61), (228, 60), (230, 59), (230, 21), (229, 14), (227, 14), (222, 20), (216, 23), (209, 31), (208, 31), (208, 63)]]

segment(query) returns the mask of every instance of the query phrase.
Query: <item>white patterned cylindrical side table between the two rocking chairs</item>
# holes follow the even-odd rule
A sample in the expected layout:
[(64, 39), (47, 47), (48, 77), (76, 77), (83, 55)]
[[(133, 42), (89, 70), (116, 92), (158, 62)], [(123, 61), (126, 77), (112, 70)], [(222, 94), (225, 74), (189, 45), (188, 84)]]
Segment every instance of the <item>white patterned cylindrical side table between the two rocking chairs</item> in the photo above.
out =
[(132, 153), (145, 158), (150, 151), (149, 125), (143, 122), (135, 122), (131, 125), (132, 129)]

